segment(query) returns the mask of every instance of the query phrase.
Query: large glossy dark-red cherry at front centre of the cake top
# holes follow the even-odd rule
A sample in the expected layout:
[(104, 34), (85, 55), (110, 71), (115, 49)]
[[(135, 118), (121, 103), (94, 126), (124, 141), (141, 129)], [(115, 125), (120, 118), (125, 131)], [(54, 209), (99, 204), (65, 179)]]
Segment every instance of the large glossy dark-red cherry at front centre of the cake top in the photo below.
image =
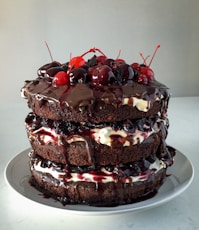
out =
[(107, 65), (101, 65), (93, 70), (92, 82), (95, 85), (108, 85), (115, 82), (115, 75)]

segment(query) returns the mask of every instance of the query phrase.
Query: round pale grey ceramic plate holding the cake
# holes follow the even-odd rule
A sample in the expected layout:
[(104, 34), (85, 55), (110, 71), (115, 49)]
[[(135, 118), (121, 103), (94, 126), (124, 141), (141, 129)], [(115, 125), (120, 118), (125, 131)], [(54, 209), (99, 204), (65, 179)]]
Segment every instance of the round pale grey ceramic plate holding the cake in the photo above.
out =
[(5, 169), (5, 179), (16, 192), (38, 204), (59, 208), (70, 214), (79, 215), (108, 215), (125, 212), (143, 211), (170, 201), (181, 194), (191, 184), (194, 170), (191, 162), (181, 152), (177, 151), (174, 166), (168, 169), (171, 176), (166, 178), (159, 192), (152, 198), (134, 204), (117, 207), (92, 207), (87, 205), (66, 205), (52, 198), (44, 198), (41, 192), (29, 183), (30, 171), (28, 164), (28, 152), (26, 149), (9, 161)]

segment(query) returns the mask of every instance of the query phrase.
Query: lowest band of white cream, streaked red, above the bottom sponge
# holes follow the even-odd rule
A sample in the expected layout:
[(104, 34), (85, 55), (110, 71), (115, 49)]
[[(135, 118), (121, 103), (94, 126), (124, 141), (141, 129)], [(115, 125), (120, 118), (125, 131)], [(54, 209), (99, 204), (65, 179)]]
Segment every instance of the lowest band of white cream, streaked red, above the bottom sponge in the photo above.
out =
[[(148, 171), (145, 173), (140, 173), (138, 176), (128, 176), (125, 177), (123, 182), (124, 183), (134, 183), (138, 181), (145, 181), (148, 179), (149, 175), (152, 173), (157, 173), (162, 168), (166, 168), (166, 164), (156, 159), (154, 163), (152, 163), (148, 169)], [(79, 181), (86, 181), (86, 182), (102, 182), (102, 183), (108, 183), (108, 182), (117, 182), (117, 176), (113, 176), (113, 172), (107, 171), (105, 168), (101, 169), (102, 174), (94, 174), (92, 171), (91, 173), (70, 173), (69, 177), (67, 178), (67, 175), (65, 172), (58, 172), (53, 167), (42, 167), (41, 161), (35, 162), (35, 164), (31, 168), (32, 170), (36, 170), (41, 173), (47, 173), (50, 174), (52, 177), (54, 177), (57, 180), (60, 180), (60, 182), (79, 182)]]

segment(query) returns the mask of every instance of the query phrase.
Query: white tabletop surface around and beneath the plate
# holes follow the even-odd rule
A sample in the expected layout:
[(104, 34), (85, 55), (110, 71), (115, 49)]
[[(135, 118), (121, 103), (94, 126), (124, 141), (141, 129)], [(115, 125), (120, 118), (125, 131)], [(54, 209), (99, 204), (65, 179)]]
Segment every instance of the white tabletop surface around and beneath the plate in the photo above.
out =
[(171, 98), (167, 143), (192, 162), (194, 180), (187, 190), (159, 207), (116, 215), (81, 216), (33, 203), (13, 191), (5, 182), (10, 159), (30, 145), (24, 129), (26, 102), (0, 108), (0, 229), (199, 229), (199, 97)]

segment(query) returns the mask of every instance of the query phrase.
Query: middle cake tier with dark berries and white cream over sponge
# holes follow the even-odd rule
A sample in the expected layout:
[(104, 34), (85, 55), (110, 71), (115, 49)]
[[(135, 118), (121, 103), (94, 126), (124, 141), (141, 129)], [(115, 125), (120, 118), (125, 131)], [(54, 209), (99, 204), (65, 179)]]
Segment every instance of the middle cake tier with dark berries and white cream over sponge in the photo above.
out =
[(155, 115), (114, 123), (73, 123), (26, 117), (32, 148), (44, 159), (62, 164), (117, 165), (139, 161), (157, 152), (167, 158), (168, 120)]

